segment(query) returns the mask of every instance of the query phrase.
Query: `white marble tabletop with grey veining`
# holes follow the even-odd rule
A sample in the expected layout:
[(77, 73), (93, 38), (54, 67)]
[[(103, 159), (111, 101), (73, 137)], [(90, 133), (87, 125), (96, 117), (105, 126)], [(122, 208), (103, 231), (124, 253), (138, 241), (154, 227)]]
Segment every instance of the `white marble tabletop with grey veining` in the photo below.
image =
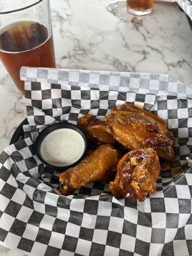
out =
[[(51, 0), (61, 68), (170, 74), (192, 86), (192, 31), (176, 3), (154, 3), (145, 17), (109, 12), (110, 0)], [(124, 3), (121, 3), (124, 4)], [(26, 117), (24, 99), (0, 63), (0, 150)], [(0, 246), (1, 256), (19, 256)]]

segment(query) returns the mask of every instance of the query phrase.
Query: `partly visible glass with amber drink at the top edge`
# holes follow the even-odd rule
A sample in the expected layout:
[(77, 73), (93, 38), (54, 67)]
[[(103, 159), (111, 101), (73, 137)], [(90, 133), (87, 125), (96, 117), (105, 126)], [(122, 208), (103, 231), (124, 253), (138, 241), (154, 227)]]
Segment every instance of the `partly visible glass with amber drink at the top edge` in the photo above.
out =
[(146, 15), (151, 12), (154, 0), (127, 0), (127, 10), (134, 15)]

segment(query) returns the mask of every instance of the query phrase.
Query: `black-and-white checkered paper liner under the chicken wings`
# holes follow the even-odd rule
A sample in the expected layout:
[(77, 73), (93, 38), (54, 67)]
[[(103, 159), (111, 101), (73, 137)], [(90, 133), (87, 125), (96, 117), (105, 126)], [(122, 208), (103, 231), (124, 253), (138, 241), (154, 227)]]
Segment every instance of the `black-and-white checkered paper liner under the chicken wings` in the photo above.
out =
[[(0, 243), (38, 256), (192, 255), (191, 88), (159, 74), (22, 68), (20, 76), (29, 125), (0, 156)], [(35, 155), (38, 132), (89, 110), (102, 120), (124, 102), (154, 111), (175, 135), (157, 192), (142, 203), (118, 200), (94, 182), (59, 195), (58, 173)]]

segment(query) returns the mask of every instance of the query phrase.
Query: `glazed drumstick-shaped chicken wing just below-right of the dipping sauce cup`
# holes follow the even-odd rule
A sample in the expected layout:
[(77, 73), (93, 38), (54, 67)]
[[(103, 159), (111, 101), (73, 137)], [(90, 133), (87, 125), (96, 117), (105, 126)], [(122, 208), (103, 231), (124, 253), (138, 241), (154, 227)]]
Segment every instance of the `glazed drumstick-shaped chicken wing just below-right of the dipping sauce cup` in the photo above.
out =
[(115, 177), (118, 151), (112, 145), (101, 145), (88, 152), (77, 164), (60, 174), (60, 192), (68, 195), (88, 182), (107, 181)]

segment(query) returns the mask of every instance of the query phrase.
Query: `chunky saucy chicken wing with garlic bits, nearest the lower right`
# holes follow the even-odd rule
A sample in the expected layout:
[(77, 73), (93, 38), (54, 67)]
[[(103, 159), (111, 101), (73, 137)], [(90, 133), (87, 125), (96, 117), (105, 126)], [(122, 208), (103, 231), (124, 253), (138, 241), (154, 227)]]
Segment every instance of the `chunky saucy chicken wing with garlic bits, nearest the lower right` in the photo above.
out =
[(138, 198), (143, 202), (149, 193), (156, 192), (159, 172), (159, 157), (153, 148), (132, 150), (120, 159), (109, 189), (120, 198)]

